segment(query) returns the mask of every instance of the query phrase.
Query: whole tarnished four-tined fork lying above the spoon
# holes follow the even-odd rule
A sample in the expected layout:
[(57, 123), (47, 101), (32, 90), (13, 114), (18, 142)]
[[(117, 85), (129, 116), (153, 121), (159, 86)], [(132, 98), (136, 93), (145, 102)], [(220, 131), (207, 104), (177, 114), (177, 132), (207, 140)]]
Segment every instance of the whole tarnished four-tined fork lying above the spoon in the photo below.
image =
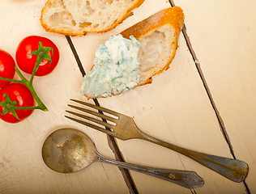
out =
[[(237, 183), (240, 183), (241, 181), (245, 180), (246, 176), (248, 175), (249, 167), (248, 167), (248, 164), (245, 162), (242, 162), (240, 160), (233, 159), (233, 158), (224, 158), (224, 157), (210, 155), (210, 154), (203, 154), (193, 150), (182, 148), (180, 146), (175, 146), (168, 142), (156, 139), (155, 137), (151, 137), (146, 133), (143, 133), (136, 126), (136, 124), (134, 123), (134, 120), (129, 116), (122, 115), (121, 113), (118, 113), (118, 112), (113, 112), (107, 108), (101, 108), (91, 103), (85, 103), (76, 99), (70, 99), (70, 100), (90, 108), (95, 108), (98, 112), (94, 112), (87, 108), (81, 108), (81, 107), (68, 104), (68, 106), (71, 108), (75, 108), (79, 111), (86, 112), (93, 116), (100, 117), (102, 120), (99, 120), (90, 116), (86, 116), (85, 114), (79, 114), (77, 112), (70, 112), (70, 111), (66, 111), (66, 112), (69, 112), (70, 114), (75, 116), (79, 116), (80, 118), (83, 118), (85, 120), (90, 120), (96, 124), (103, 125), (105, 126), (105, 128), (101, 128), (100, 126), (97, 126), (95, 124), (91, 124), (83, 120), (78, 120), (70, 116), (66, 116), (66, 118), (70, 120), (74, 120), (80, 124), (87, 125), (88, 127), (97, 129), (100, 132), (107, 133), (123, 141), (133, 139), (133, 138), (139, 138), (146, 141), (151, 141), (159, 146), (164, 146), (165, 148), (174, 150), (177, 153), (183, 154), (191, 159), (194, 159), (194, 161), (199, 162), (203, 166), (208, 167), (211, 170), (216, 171), (220, 175), (223, 175), (227, 179), (231, 179)], [(117, 118), (104, 115), (103, 112), (107, 112), (110, 115), (116, 116)], [(113, 124), (107, 123), (107, 121), (110, 121)]]

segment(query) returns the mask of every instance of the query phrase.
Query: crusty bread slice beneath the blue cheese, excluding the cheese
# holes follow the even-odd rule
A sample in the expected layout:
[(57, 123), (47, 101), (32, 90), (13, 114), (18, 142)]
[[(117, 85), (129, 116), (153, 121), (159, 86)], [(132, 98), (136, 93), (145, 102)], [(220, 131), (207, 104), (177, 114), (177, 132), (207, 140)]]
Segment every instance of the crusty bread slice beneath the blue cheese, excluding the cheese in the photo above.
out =
[[(169, 69), (169, 65), (176, 54), (178, 47), (177, 40), (181, 28), (183, 27), (184, 18), (185, 16), (181, 8), (174, 6), (164, 9), (155, 15), (151, 15), (151, 17), (121, 32), (124, 38), (129, 39), (130, 36), (134, 36), (140, 43), (138, 52), (140, 61), (139, 81), (134, 87), (151, 83), (152, 76)], [(100, 80), (101, 78), (97, 79)], [(81, 93), (85, 95), (87, 99), (107, 97), (104, 95), (94, 95), (94, 91), (97, 90), (97, 88), (92, 82), (85, 82), (85, 80), (84, 78)], [(87, 91), (88, 87), (93, 89)], [(128, 88), (128, 90), (129, 89), (130, 88)], [(113, 91), (116, 91), (116, 88), (113, 88)], [(111, 92), (110, 94), (108, 93), (108, 96), (120, 95), (125, 91), (120, 93)]]

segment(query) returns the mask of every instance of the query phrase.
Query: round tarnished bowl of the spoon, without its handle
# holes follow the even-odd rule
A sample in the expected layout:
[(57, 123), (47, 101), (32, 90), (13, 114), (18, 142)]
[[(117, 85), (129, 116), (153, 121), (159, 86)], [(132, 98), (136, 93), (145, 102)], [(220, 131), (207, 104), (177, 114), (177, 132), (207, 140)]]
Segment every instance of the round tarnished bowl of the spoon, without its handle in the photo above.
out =
[(81, 171), (96, 160), (96, 147), (85, 133), (58, 129), (45, 140), (42, 149), (45, 164), (53, 171)]

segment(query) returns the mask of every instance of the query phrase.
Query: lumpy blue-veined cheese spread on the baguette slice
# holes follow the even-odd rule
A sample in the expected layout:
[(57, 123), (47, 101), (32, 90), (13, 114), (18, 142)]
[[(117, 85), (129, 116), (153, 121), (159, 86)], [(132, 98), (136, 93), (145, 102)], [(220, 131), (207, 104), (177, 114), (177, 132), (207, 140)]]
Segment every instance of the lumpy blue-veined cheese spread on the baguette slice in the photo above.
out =
[(109, 97), (128, 91), (139, 83), (140, 43), (130, 36), (111, 36), (96, 50), (94, 66), (83, 78), (81, 94), (88, 98)]

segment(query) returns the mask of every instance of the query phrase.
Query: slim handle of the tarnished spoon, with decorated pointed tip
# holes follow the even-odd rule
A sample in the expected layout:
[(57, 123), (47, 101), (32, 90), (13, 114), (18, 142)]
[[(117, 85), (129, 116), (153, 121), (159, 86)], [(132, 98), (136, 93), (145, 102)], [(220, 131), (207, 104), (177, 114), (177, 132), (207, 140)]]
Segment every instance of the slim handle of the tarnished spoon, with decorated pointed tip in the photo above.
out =
[(123, 167), (130, 169), (131, 171), (138, 171), (146, 175), (151, 175), (159, 179), (168, 180), (172, 183), (177, 183), (185, 188), (198, 188), (203, 186), (203, 179), (196, 174), (194, 171), (177, 171), (169, 169), (159, 169), (152, 167), (143, 167), (140, 165), (130, 164), (126, 162), (119, 162), (110, 158), (105, 158), (104, 156), (96, 153), (96, 160), (100, 162), (105, 162), (113, 164), (117, 167)]

